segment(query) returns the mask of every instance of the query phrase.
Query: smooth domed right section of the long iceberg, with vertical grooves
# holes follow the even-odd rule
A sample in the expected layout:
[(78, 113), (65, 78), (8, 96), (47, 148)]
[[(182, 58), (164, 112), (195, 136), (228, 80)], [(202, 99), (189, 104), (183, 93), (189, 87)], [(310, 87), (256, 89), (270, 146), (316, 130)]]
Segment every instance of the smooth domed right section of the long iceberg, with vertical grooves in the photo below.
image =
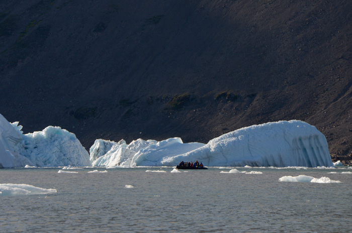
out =
[(325, 136), (301, 121), (245, 127), (194, 151), (165, 157), (161, 164), (170, 166), (182, 160), (199, 160), (207, 166), (333, 166)]

